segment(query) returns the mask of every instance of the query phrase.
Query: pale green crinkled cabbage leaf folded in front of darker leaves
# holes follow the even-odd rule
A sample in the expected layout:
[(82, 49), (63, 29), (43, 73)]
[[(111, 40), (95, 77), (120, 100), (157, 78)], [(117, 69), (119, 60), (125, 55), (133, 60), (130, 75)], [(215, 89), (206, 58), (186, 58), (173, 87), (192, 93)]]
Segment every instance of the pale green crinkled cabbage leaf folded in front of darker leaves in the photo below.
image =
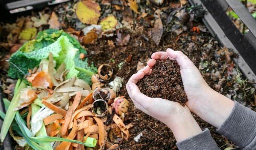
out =
[[(62, 62), (66, 63), (66, 69), (69, 69), (67, 78), (71, 78), (79, 73), (75, 69), (74, 63), (76, 51), (78, 51), (78, 49), (73, 47), (66, 36), (60, 36), (54, 43), (42, 49), (37, 49), (28, 53), (23, 53), (20, 51), (15, 52), (14, 55), (11, 56), (10, 62), (14, 63), (18, 68), (21, 68), (19, 65), (22, 65), (23, 69), (27, 70), (31, 69), (31, 64), (37, 66), (42, 59), (48, 58), (49, 53), (52, 52), (57, 65), (60, 65)], [(30, 64), (27, 64), (27, 62), (24, 63), (24, 60), (30, 61)], [(9, 70), (9, 72), (12, 71)]]

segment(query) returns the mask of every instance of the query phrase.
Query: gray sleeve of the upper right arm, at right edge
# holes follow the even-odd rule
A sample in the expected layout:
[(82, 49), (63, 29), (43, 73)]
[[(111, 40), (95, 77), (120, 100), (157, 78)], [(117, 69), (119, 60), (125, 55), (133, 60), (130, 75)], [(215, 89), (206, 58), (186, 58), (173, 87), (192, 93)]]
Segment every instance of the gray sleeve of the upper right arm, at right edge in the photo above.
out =
[(256, 112), (235, 101), (232, 112), (217, 132), (243, 150), (256, 150)]

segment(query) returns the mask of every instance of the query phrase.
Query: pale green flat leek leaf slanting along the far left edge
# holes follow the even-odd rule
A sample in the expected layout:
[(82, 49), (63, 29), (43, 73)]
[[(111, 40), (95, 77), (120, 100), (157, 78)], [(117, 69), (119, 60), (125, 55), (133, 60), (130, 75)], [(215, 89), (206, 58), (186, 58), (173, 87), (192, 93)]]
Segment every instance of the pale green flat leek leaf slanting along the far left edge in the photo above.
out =
[(23, 80), (21, 81), (19, 79), (16, 83), (14, 96), (12, 98), (12, 101), (11, 101), (10, 105), (9, 105), (9, 109), (7, 110), (6, 115), (5, 115), (6, 119), (3, 120), (3, 126), (2, 126), (2, 129), (1, 129), (1, 133), (0, 133), (1, 142), (4, 141), (5, 136), (8, 132), (11, 124), (12, 124), (12, 120), (15, 117), (15, 113), (17, 112), (17, 111), (13, 111), (13, 109), (17, 106), (18, 101), (20, 100), (20, 90), (24, 89), (25, 87), (27, 87), (27, 85), (24, 83), (24, 81)]

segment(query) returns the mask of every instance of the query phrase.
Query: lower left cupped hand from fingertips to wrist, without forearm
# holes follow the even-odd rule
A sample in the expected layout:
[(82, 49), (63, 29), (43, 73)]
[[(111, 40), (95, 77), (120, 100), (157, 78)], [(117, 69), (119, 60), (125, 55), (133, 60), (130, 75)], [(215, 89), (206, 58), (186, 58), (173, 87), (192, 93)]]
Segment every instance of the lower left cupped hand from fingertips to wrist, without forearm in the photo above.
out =
[(162, 98), (149, 98), (140, 92), (136, 83), (145, 75), (152, 72), (149, 66), (146, 66), (136, 74), (132, 75), (126, 84), (126, 90), (132, 99), (136, 108), (152, 117), (162, 121), (170, 128), (178, 122), (179, 118), (184, 118), (184, 115), (190, 114), (189, 109), (181, 106), (177, 102), (168, 101)]

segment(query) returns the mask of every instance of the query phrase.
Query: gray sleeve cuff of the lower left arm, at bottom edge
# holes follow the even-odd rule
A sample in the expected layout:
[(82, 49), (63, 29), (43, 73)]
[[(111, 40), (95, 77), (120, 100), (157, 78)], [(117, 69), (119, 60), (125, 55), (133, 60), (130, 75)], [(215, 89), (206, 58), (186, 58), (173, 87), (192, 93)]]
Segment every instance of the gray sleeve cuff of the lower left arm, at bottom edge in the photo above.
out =
[(209, 129), (205, 129), (202, 133), (184, 141), (177, 142), (177, 147), (179, 150), (220, 150)]

